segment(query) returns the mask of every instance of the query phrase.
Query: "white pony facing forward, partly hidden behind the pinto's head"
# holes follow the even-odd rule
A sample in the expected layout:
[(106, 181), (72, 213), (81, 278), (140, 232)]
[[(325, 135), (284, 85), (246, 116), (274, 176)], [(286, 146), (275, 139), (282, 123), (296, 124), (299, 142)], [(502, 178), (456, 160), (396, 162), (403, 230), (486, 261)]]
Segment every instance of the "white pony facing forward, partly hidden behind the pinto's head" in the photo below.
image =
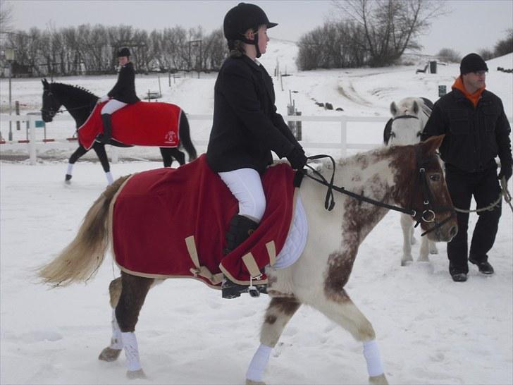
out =
[[(390, 104), (391, 118), (383, 132), (385, 145), (413, 145), (420, 141), (421, 132), (431, 115), (433, 103), (426, 98), (406, 97), (398, 104)], [(401, 215), (403, 236), (401, 266), (413, 261), (412, 245), (416, 243), (414, 221), (406, 214)], [(427, 237), (421, 237), (419, 262), (429, 262), (429, 254), (438, 254), (436, 244)]]

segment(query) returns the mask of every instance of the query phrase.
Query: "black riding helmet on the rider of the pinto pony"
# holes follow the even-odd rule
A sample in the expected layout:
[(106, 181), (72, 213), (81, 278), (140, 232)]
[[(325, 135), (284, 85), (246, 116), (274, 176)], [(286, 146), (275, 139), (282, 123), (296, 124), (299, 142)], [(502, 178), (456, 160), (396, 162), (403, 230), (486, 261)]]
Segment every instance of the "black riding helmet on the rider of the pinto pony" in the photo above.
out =
[(247, 30), (257, 31), (260, 25), (266, 25), (268, 28), (276, 27), (278, 23), (271, 23), (266, 13), (254, 4), (239, 3), (226, 13), (223, 22), (223, 32), (228, 42), (241, 40), (247, 44), (254, 44), (257, 47), (257, 57), (260, 57), (258, 34), (255, 34), (254, 40), (246, 38)]

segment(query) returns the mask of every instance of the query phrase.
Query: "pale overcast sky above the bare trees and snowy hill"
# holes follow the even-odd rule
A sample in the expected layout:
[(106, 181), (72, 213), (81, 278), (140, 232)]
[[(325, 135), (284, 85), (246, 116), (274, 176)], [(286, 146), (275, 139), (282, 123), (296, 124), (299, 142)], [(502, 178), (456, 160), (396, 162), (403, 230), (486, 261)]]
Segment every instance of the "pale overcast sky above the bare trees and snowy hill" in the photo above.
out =
[[(4, 6), (5, 1), (0, 0)], [(441, 1), (441, 0), (435, 0)], [(28, 30), (80, 24), (132, 25), (144, 30), (202, 25), (211, 32), (223, 24), (231, 7), (240, 1), (178, 0), (8, 0), (13, 9), (13, 27)], [(277, 37), (297, 41), (333, 16), (331, 1), (248, 1), (264, 8), (268, 18), (278, 23), (269, 31)], [(436, 54), (452, 48), (464, 55), (481, 48), (493, 49), (506, 31), (513, 28), (513, 0), (445, 1), (450, 13), (435, 20), (420, 42), (423, 53)]]

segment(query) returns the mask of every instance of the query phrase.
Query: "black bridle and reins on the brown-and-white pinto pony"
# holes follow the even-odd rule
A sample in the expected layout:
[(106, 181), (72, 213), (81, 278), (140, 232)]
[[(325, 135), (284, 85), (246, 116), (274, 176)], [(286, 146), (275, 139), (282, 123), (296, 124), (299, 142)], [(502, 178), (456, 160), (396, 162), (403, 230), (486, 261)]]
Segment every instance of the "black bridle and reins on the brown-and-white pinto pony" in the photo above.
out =
[[(410, 208), (405, 209), (403, 207), (395, 206), (393, 204), (388, 204), (385, 202), (380, 202), (378, 200), (373, 200), (372, 198), (365, 197), (363, 193), (357, 194), (352, 193), (351, 191), (346, 190), (343, 187), (339, 187), (337, 185), (333, 185), (333, 180), (335, 178), (335, 160), (333, 157), (330, 157), (330, 155), (326, 154), (319, 154), (314, 155), (312, 157), (308, 157), (308, 159), (315, 160), (315, 159), (322, 159), (322, 158), (329, 158), (331, 160), (331, 164), (333, 165), (333, 172), (331, 173), (330, 181), (328, 182), (324, 176), (319, 173), (316, 169), (314, 169), (312, 166), (307, 164), (306, 166), (314, 173), (314, 176), (307, 173), (306, 170), (300, 170), (298, 172), (301, 172), (304, 176), (308, 176), (309, 178), (313, 179), (314, 181), (321, 183), (322, 185), (325, 185), (328, 188), (328, 191), (326, 193), (326, 199), (324, 200), (324, 208), (328, 211), (333, 210), (333, 207), (335, 207), (335, 197), (333, 196), (333, 190), (337, 191), (338, 193), (342, 193), (345, 195), (349, 195), (350, 197), (354, 197), (355, 199), (359, 200), (359, 202), (367, 202), (370, 204), (373, 204), (378, 207), (384, 207), (385, 209), (390, 209), (396, 212), (401, 212), (402, 214), (408, 214), (409, 216), (412, 216), (414, 221), (416, 221), (415, 227), (419, 226), (421, 222), (426, 223), (434, 223), (434, 226), (431, 228), (428, 228), (428, 230), (424, 231), (424, 233), (421, 233), (421, 236), (425, 236), (427, 233), (431, 233), (431, 231), (435, 231), (437, 228), (440, 228), (444, 224), (446, 224), (448, 221), (450, 221), (453, 217), (456, 216), (456, 212), (454, 207), (449, 206), (441, 206), (438, 204), (435, 204), (435, 199), (433, 197), (433, 193), (431, 193), (431, 188), (429, 188), (429, 183), (426, 176), (426, 168), (424, 167), (426, 164), (428, 164), (431, 159), (435, 158), (436, 155), (433, 155), (432, 157), (426, 158), (426, 159), (420, 159), (419, 160), (419, 149), (415, 147), (415, 157), (416, 157), (416, 169), (417, 169), (417, 181), (416, 183), (420, 183), (421, 189), (422, 189), (422, 195), (423, 195), (423, 204), (422, 207), (416, 207), (416, 208)], [(412, 206), (412, 204), (410, 204)], [(441, 212), (450, 212), (451, 215), (444, 219), (443, 221), (437, 221), (436, 214)]]

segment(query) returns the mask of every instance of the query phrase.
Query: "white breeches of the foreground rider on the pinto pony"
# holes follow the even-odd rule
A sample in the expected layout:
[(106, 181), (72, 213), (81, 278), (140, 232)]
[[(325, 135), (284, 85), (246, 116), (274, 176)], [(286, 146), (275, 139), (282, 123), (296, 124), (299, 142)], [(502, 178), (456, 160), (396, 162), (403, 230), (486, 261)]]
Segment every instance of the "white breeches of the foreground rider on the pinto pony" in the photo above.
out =
[(254, 169), (238, 169), (219, 173), (219, 176), (239, 201), (239, 215), (260, 222), (266, 211), (260, 174)]

